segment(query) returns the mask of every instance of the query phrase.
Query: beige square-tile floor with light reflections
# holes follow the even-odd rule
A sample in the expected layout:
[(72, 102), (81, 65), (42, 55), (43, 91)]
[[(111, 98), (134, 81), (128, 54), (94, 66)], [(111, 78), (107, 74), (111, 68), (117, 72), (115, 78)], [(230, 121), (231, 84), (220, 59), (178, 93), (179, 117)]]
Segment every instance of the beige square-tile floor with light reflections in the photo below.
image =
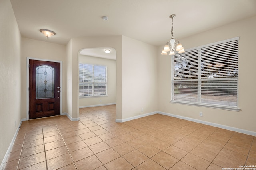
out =
[(115, 122), (115, 105), (22, 122), (6, 170), (221, 170), (256, 165), (256, 137), (165, 115)]

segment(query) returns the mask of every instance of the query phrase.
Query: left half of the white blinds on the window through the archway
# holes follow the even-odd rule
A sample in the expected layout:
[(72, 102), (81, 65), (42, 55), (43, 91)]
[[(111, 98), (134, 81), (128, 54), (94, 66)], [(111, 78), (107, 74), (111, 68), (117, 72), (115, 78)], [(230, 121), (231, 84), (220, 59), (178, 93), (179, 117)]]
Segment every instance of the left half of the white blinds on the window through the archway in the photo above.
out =
[(93, 95), (93, 65), (79, 64), (79, 96)]

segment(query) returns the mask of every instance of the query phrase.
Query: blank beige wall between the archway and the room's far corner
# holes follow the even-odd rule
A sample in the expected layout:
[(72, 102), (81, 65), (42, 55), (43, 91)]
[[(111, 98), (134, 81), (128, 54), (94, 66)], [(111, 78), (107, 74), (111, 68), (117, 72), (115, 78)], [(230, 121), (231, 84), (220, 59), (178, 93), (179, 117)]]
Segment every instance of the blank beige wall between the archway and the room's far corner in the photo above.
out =
[(122, 119), (157, 111), (157, 76), (157, 47), (122, 36)]

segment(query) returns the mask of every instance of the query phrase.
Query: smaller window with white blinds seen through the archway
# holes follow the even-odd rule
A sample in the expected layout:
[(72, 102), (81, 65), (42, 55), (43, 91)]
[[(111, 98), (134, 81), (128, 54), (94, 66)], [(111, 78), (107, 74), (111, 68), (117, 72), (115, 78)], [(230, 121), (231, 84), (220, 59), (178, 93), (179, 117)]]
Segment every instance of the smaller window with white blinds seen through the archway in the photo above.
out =
[(107, 95), (107, 67), (79, 64), (79, 96)]

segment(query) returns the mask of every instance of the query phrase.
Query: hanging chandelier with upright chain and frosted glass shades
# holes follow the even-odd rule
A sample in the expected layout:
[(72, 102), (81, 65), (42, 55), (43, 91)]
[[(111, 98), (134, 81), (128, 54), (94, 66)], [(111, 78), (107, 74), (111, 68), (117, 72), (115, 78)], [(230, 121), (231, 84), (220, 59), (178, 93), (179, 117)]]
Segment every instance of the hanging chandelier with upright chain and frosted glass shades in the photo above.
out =
[(175, 51), (178, 51), (178, 53), (185, 52), (184, 48), (182, 47), (181, 43), (179, 41), (176, 41), (173, 37), (173, 18), (175, 17), (175, 14), (170, 15), (170, 18), (172, 19), (172, 29), (171, 29), (171, 39), (166, 43), (164, 46), (164, 49), (161, 54), (163, 55), (174, 55)]

